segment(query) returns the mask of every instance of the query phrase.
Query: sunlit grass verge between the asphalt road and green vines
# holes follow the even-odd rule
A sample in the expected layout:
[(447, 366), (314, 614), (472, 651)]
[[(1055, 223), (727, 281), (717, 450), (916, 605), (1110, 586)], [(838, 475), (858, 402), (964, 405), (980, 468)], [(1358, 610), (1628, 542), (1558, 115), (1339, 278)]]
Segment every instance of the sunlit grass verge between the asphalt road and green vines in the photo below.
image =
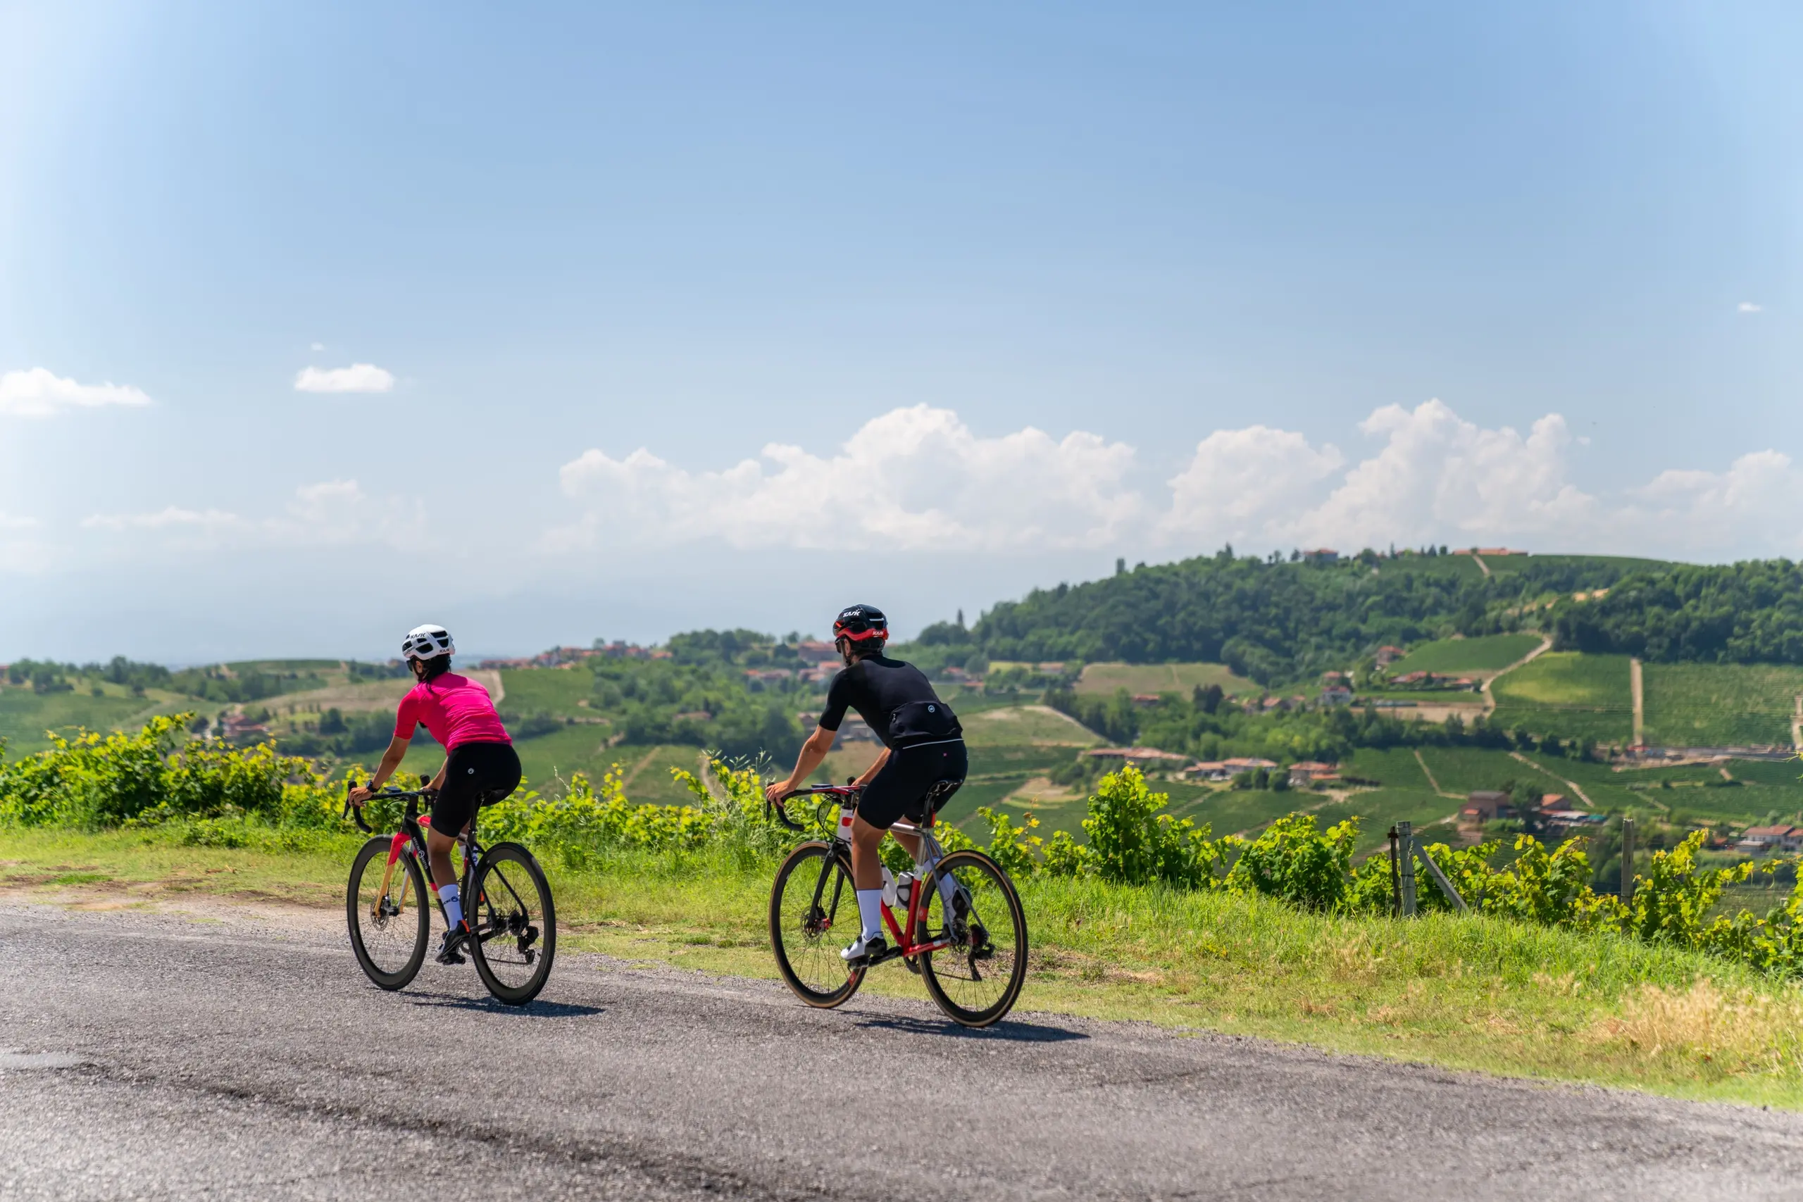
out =
[[(0, 831), (0, 887), (112, 905), (287, 903), (332, 921), (355, 845), (265, 852)], [(566, 948), (746, 977), (775, 975), (770, 876), (716, 854), (552, 865)], [(1325, 917), (1100, 881), (1033, 879), (1022, 897), (1033, 973), (1020, 1011), (1803, 1108), (1803, 991), (1704, 955), (1484, 917)], [(925, 997), (902, 968), (865, 988)]]

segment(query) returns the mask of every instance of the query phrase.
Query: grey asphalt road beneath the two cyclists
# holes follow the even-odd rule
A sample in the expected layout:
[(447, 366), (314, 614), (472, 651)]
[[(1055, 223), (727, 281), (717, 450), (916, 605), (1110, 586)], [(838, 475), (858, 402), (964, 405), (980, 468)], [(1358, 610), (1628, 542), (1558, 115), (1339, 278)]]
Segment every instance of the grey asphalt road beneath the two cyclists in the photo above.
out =
[[(332, 926), (0, 908), (0, 1198), (1796, 1197), (1803, 1117), (568, 957), (364, 984)], [(422, 1179), (429, 1179), (422, 1186)]]

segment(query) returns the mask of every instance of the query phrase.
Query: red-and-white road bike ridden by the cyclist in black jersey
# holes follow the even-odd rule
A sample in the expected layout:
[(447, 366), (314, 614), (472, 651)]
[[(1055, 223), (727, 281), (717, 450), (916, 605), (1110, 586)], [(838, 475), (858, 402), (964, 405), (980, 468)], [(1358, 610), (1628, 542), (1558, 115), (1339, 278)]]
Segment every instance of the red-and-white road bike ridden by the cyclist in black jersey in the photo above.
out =
[[(934, 786), (948, 795), (957, 786)], [(851, 816), (858, 806), (856, 786), (815, 786), (790, 793), (775, 804), (784, 827), (806, 831), (784, 806), (817, 798), (815, 822), (833, 838), (811, 840), (788, 854), (770, 887), (770, 942), (783, 980), (808, 1006), (842, 1006), (864, 984), (864, 973), (885, 961), (902, 961), (920, 975), (941, 1011), (966, 1027), (1001, 1022), (1026, 980), (1026, 912), (1020, 894), (999, 863), (981, 851), (945, 854), (932, 834), (932, 813), (941, 800), (927, 797), (927, 822), (898, 822), (903, 834), (920, 834), (923, 863), (932, 869), (920, 879), (903, 874), (883, 887), (883, 924), (889, 950), (873, 964), (851, 966), (838, 950), (858, 935), (858, 899), (851, 881)], [(828, 815), (837, 806), (838, 824)], [(902, 919), (896, 919), (896, 908)]]

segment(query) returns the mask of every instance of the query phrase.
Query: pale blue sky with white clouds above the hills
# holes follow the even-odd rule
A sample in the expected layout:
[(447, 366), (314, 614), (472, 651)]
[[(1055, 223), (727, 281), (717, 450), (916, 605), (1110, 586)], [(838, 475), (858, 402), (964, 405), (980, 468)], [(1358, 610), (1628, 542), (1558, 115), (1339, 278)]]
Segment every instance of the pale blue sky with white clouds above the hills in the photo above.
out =
[(0, 660), (912, 629), (1228, 539), (1798, 555), (1799, 34), (0, 7)]

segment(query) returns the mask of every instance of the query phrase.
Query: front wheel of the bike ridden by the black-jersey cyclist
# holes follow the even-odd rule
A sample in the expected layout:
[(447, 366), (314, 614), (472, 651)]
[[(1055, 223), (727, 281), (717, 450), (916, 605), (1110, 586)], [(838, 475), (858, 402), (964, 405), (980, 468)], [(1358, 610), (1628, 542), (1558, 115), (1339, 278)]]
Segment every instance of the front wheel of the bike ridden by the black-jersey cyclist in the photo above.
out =
[[(802, 870), (815, 861), (819, 870)], [(797, 894), (790, 897), (793, 905), (786, 906), (790, 881), (797, 885)], [(831, 843), (802, 843), (777, 869), (777, 879), (770, 885), (770, 944), (784, 984), (808, 1006), (844, 1006), (864, 984), (864, 970), (849, 968), (833, 946), (831, 928), (847, 908), (851, 921), (842, 930), (855, 937), (856, 888), (851, 867), (835, 854)]]

